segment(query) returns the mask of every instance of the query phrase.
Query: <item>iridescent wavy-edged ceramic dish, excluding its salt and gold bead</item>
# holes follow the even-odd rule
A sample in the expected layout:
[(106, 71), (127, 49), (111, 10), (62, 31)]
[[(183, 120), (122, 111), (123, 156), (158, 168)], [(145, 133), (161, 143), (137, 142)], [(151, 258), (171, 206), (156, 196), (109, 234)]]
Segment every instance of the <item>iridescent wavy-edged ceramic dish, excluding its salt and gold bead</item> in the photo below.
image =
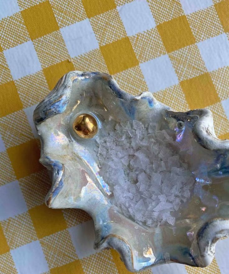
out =
[[(111, 121), (143, 122), (146, 117), (174, 130), (196, 185), (173, 226), (141, 226), (111, 203), (109, 182), (99, 176), (93, 153), (95, 137), (82, 138), (74, 131), (82, 114), (96, 120), (100, 137), (111, 130)], [(210, 110), (174, 112), (150, 92), (125, 93), (108, 74), (73, 71), (37, 106), (34, 122), (41, 139), (40, 162), (53, 172), (45, 202), (51, 208), (89, 213), (96, 249), (116, 249), (130, 271), (170, 262), (211, 263), (216, 241), (229, 234), (229, 141), (216, 137)]]

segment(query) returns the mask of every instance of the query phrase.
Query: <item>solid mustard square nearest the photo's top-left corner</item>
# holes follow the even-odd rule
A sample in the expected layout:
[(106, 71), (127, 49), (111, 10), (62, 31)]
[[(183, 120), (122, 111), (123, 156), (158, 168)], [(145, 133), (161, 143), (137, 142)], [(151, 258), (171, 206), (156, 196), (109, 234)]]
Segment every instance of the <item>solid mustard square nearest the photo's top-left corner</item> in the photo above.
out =
[(32, 40), (59, 29), (49, 1), (21, 11)]

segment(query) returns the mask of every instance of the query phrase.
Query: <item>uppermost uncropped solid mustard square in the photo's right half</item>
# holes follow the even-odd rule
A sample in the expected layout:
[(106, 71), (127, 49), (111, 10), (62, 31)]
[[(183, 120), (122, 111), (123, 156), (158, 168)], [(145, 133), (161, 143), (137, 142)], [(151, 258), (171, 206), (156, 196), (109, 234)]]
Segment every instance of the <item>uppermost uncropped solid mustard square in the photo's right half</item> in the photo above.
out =
[(168, 53), (196, 42), (185, 15), (162, 23), (157, 29)]

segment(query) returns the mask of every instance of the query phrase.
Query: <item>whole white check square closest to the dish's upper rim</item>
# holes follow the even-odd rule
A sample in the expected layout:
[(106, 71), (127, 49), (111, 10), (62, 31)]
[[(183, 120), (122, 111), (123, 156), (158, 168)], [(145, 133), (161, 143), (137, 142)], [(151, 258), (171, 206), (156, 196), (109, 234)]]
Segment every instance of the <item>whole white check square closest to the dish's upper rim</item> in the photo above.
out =
[(179, 83), (167, 54), (142, 63), (140, 67), (150, 92), (157, 92)]

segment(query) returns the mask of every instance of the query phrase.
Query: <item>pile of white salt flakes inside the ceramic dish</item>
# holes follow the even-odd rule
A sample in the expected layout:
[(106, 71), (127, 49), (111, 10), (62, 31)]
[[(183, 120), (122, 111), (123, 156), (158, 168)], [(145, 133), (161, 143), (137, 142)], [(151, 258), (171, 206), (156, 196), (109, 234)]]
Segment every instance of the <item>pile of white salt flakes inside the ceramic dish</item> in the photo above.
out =
[(180, 160), (174, 131), (157, 125), (118, 123), (95, 148), (99, 175), (109, 184), (114, 204), (139, 224), (173, 225), (175, 211), (190, 197), (194, 178)]

